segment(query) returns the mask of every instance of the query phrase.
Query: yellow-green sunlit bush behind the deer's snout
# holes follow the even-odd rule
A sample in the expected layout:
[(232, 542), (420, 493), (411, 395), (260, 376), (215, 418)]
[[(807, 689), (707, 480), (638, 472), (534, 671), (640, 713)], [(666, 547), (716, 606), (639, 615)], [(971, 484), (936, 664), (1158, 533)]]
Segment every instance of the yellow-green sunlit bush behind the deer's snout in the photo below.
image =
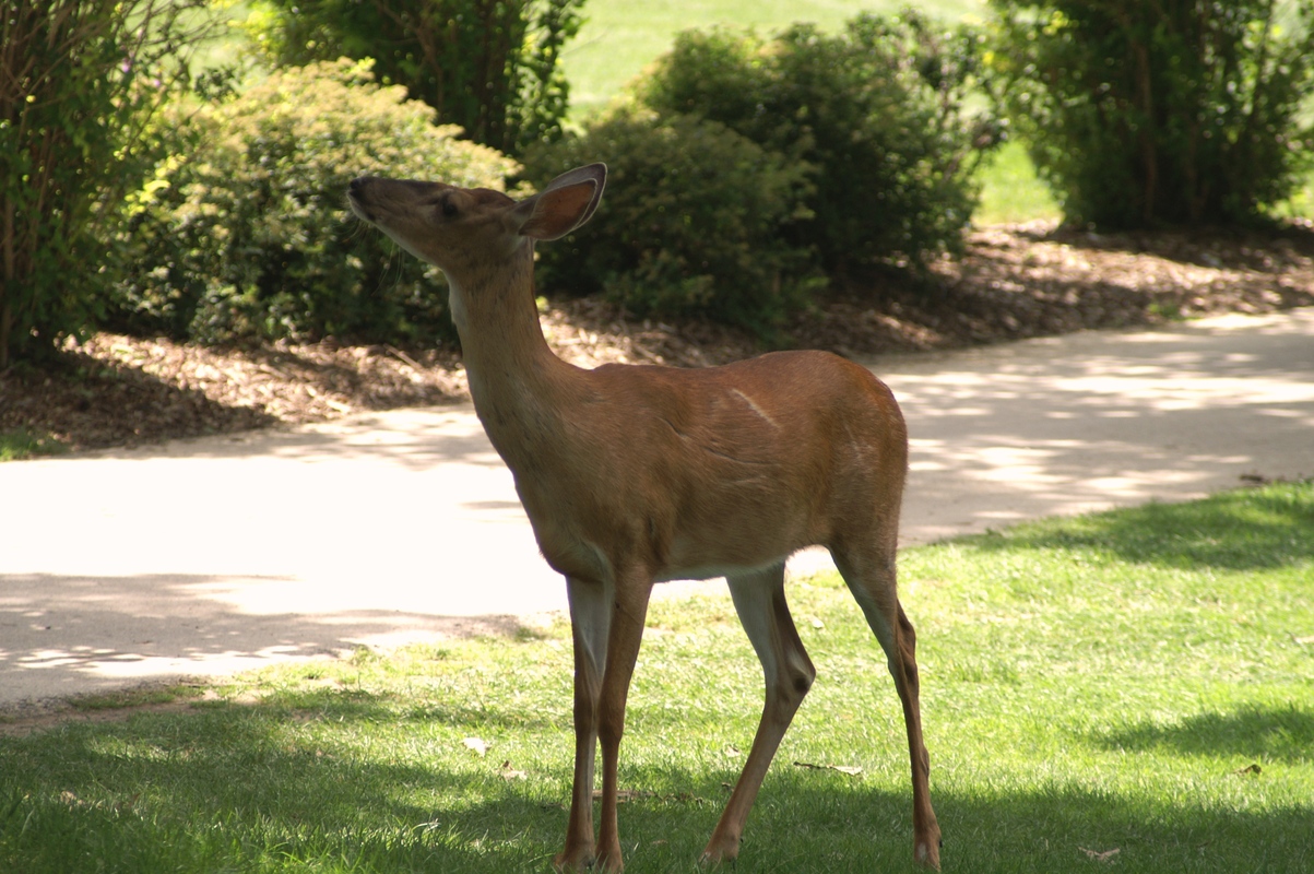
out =
[(346, 205), (368, 173), (502, 188), (514, 162), (432, 117), (348, 60), (175, 108), (177, 151), (130, 198), (137, 269), (117, 287), (120, 322), (206, 343), (455, 338), (442, 273)]

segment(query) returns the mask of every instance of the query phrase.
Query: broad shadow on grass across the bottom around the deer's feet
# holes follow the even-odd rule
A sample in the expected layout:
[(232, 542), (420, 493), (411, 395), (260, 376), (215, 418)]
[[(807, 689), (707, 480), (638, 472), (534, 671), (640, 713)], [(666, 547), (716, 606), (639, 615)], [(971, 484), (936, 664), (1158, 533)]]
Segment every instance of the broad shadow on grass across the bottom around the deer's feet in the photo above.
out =
[[(202, 706), (0, 739), (0, 870), (84, 870), (87, 860), (143, 871), (551, 870), (566, 820), (565, 732), (544, 737), (560, 748), (552, 773), (507, 779), (491, 756), (424, 764), (424, 747), (439, 741), (423, 720), (398, 719), (374, 699), (339, 693), (319, 703)], [(1265, 720), (1289, 729), (1294, 720), (1292, 743), (1301, 743), (1310, 725), (1298, 716), (1243, 719), (1239, 731), (1263, 735)], [(315, 720), (334, 731), (302, 731)], [(363, 735), (380, 725), (399, 740)], [(690, 871), (733, 773), (660, 758), (623, 764), (623, 787), (639, 790), (622, 807), (627, 858), (635, 871)], [(909, 793), (884, 779), (778, 762), (736, 870), (912, 870)], [(1309, 804), (1238, 810), (1180, 793), (1160, 798), (1171, 800), (1043, 781), (1028, 791), (937, 790), (946, 870), (1092, 870), (1087, 850), (1117, 850), (1116, 861), (1135, 870), (1314, 865)]]

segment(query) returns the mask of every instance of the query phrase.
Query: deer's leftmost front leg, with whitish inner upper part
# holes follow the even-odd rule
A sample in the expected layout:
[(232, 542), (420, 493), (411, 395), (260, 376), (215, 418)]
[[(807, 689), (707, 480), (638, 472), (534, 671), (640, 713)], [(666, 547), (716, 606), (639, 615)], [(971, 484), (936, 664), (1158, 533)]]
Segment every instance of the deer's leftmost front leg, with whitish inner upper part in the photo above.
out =
[(593, 770), (598, 749), (598, 701), (607, 666), (611, 598), (600, 584), (566, 577), (570, 630), (574, 637), (574, 785), (566, 845), (553, 863), (557, 870), (582, 871), (593, 865)]

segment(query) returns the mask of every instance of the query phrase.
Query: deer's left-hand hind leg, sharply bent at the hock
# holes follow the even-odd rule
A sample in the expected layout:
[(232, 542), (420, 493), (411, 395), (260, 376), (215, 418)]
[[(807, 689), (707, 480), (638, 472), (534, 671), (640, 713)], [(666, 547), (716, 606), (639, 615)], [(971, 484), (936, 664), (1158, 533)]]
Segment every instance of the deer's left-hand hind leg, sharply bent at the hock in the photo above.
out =
[(784, 602), (784, 564), (731, 574), (727, 581), (735, 611), (762, 662), (766, 703), (744, 771), (716, 823), (707, 849), (703, 850), (703, 858), (710, 862), (738, 856), (744, 823), (757, 798), (757, 790), (762, 786), (794, 714), (816, 678), (816, 669), (799, 640), (790, 607)]

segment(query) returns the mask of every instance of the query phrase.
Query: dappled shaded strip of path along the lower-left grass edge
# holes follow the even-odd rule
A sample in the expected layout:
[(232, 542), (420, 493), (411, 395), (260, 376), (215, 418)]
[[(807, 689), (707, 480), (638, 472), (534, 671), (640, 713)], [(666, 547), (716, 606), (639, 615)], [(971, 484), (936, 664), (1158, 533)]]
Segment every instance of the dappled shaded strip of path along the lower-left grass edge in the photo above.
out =
[(315, 589), (285, 577), (0, 574), (4, 702), (520, 627), (507, 615), (385, 609), (369, 587), (353, 602)]

